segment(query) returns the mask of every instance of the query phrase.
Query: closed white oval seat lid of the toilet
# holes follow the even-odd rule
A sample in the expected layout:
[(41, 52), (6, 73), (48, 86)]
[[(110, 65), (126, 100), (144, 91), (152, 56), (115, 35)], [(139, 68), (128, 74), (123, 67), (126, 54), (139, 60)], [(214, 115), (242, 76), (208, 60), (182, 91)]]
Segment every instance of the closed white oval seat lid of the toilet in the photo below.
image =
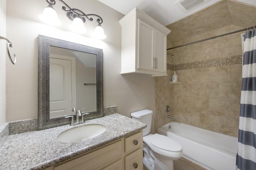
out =
[(180, 152), (182, 146), (173, 139), (164, 135), (154, 134), (148, 138), (149, 142), (156, 148), (163, 149), (170, 152)]

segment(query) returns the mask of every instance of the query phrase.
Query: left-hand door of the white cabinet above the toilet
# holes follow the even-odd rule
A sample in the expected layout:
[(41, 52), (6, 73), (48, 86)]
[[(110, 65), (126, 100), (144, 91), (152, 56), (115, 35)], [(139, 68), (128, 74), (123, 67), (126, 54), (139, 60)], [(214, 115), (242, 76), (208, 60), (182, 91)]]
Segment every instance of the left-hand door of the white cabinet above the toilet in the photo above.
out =
[(138, 20), (138, 58), (139, 69), (154, 70), (154, 28)]

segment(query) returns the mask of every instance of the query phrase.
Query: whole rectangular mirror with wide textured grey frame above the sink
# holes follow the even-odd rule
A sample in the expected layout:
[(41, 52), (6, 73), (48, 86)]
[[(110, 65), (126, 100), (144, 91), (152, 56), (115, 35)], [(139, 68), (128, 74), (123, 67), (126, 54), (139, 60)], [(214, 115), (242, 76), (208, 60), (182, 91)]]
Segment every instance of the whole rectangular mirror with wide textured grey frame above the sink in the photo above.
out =
[(73, 107), (104, 116), (102, 51), (38, 35), (38, 130), (69, 124)]

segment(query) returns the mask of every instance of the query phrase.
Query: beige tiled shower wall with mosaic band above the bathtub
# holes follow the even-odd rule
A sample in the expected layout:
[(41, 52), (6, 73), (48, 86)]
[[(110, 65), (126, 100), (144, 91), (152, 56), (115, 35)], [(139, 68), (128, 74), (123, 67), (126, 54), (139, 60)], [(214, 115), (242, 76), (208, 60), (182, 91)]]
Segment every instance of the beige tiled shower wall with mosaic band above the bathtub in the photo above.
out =
[[(168, 25), (167, 27), (172, 30), (168, 35), (168, 47), (183, 45), (255, 25), (256, 14), (254, 13), (256, 8), (252, 8), (254, 9), (252, 12), (248, 7), (240, 8), (237, 4), (229, 0), (220, 1), (209, 10), (200, 11)], [(226, 8), (232, 8), (231, 16)], [(255, 15), (255, 17), (248, 19), (248, 16), (240, 15), (243, 14), (241, 9), (248, 9), (248, 15)], [(167, 62), (173, 64), (174, 69), (178, 69), (176, 72), (180, 84), (168, 82), (172, 78), (172, 70), (168, 70), (168, 78), (155, 79), (156, 115), (158, 117), (156, 128), (172, 121), (166, 119), (166, 112), (164, 111), (165, 105), (168, 103), (172, 108), (168, 114), (174, 115), (176, 121), (237, 136), (242, 64), (232, 64), (237, 63), (237, 56), (242, 55), (240, 33), (168, 51), (168, 53), (175, 55), (173, 58), (168, 55)], [(234, 62), (230, 61), (233, 56)], [(218, 58), (222, 59), (217, 60)], [(223, 66), (219, 66), (221, 64)], [(198, 68), (205, 66), (206, 68)]]

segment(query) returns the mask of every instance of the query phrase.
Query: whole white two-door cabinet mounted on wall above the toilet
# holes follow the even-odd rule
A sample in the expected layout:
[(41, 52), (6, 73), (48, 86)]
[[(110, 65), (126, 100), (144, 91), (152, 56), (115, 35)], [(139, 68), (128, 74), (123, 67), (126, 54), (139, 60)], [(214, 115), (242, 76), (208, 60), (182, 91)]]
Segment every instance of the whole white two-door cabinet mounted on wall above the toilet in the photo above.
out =
[(121, 74), (166, 76), (166, 36), (170, 30), (137, 8), (119, 22), (122, 26)]

